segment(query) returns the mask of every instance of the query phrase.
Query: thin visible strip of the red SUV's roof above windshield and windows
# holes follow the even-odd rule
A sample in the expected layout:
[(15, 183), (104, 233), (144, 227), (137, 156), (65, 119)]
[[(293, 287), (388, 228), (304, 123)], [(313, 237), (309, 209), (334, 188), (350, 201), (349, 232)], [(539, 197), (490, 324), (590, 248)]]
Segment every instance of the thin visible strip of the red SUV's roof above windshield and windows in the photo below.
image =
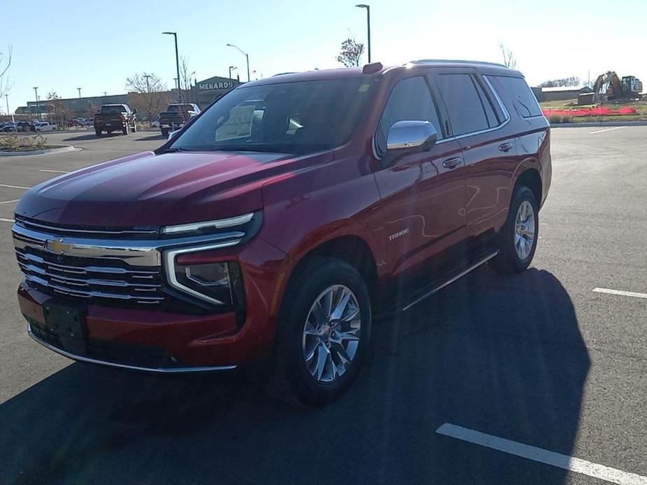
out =
[(322, 70), (315, 70), (315, 71), (304, 71), (300, 73), (281, 73), (281, 74), (274, 75), (271, 78), (265, 78), (265, 79), (245, 83), (244, 85), (241, 85), (241, 87), (271, 85), (271, 84), (278, 84), (281, 82), (348, 79), (348, 78), (361, 78), (363, 76), (379, 76), (390, 71), (398, 71), (398, 70), (420, 68), (420, 67), (436, 67), (436, 68), (468, 67), (468, 68), (474, 68), (479, 72), (488, 73), (488, 74), (514, 75), (518, 77), (523, 76), (522, 73), (520, 73), (519, 71), (515, 71), (514, 69), (508, 68), (503, 64), (495, 64), (494, 62), (460, 61), (460, 60), (448, 60), (448, 59), (421, 59), (418, 61), (411, 61), (407, 64), (400, 65), (400, 66), (385, 66), (371, 74), (362, 73), (362, 68), (360, 67), (322, 69)]

